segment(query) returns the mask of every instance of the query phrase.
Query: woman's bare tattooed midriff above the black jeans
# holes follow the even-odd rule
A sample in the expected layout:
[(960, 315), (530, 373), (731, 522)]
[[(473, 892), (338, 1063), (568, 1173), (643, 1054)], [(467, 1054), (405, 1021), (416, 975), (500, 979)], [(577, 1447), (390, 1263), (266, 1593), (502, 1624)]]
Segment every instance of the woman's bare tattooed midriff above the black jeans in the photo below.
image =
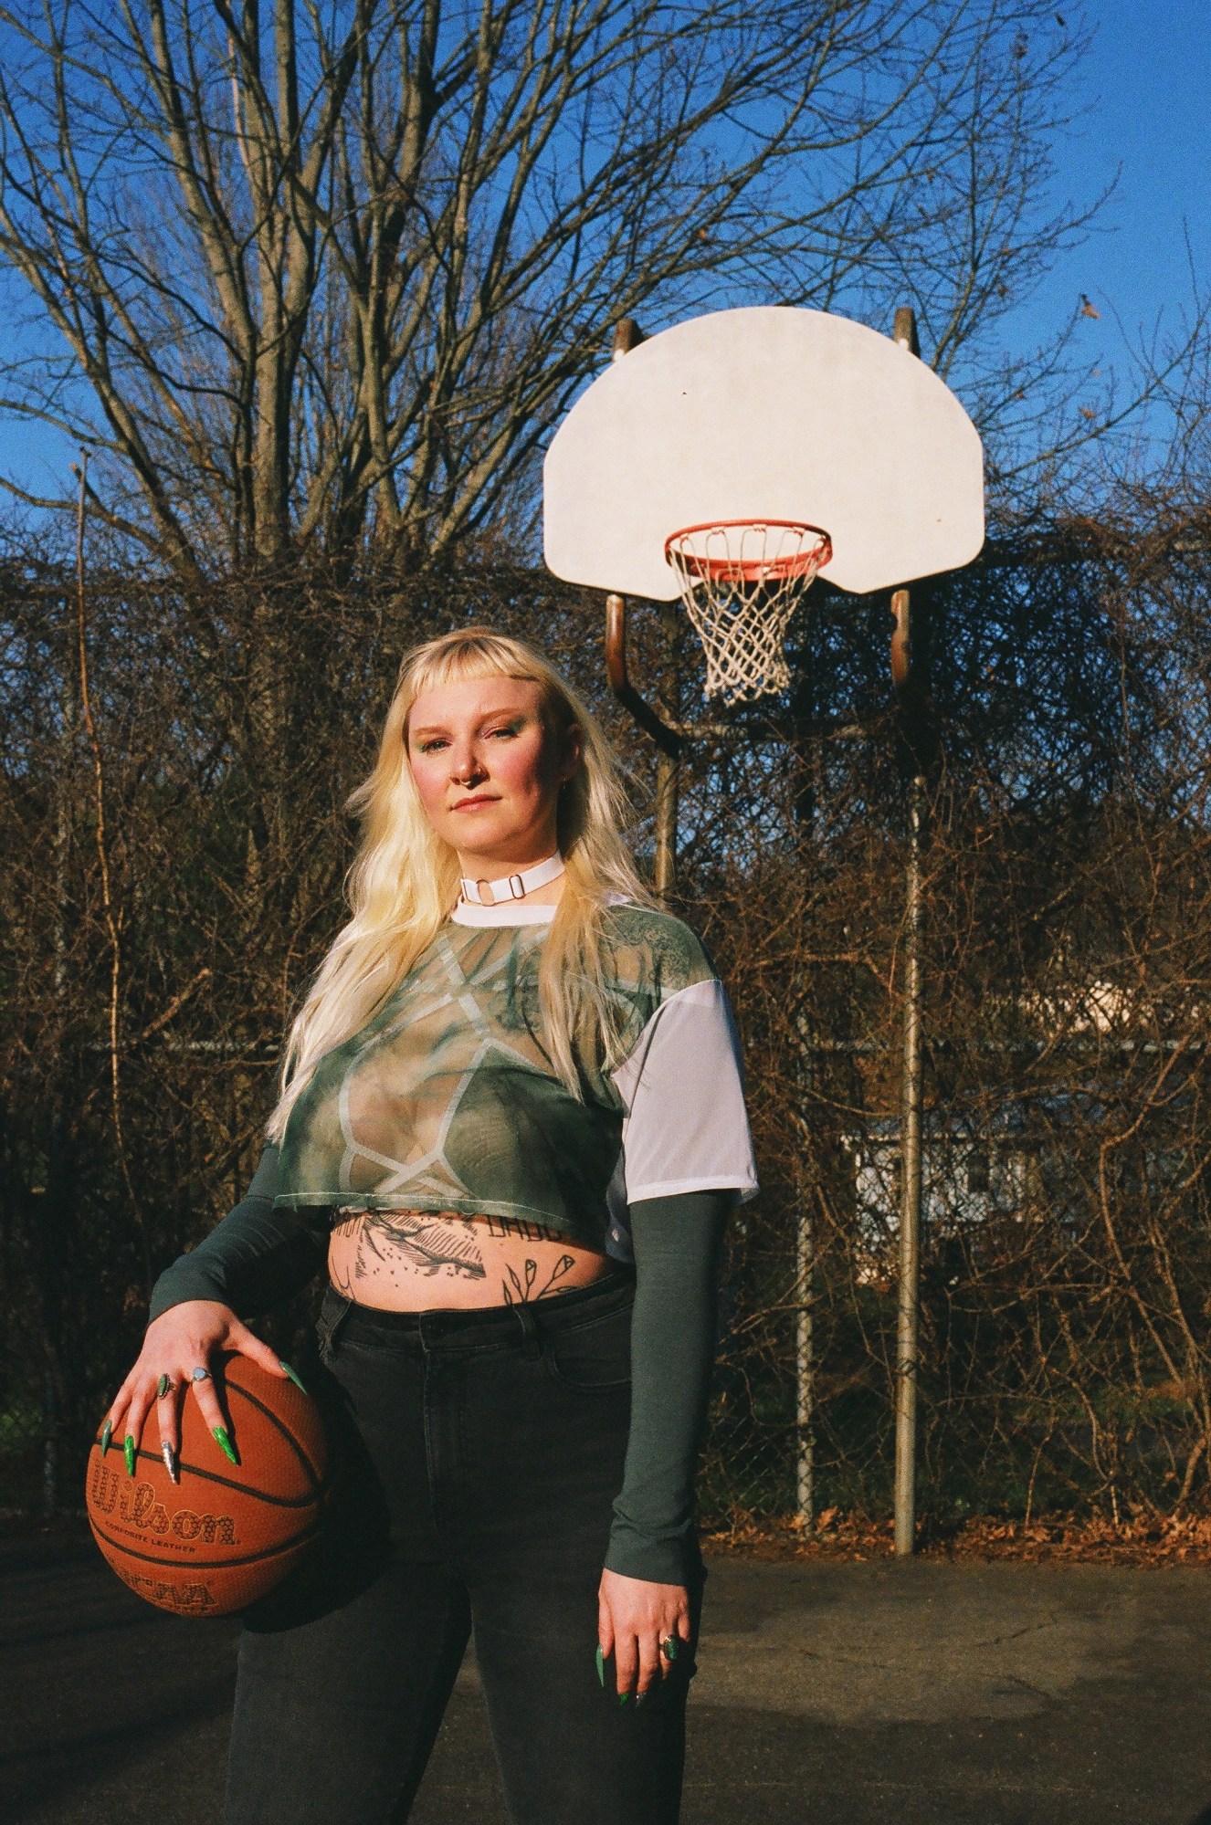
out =
[(522, 1305), (588, 1287), (610, 1257), (542, 1223), (455, 1210), (336, 1212), (329, 1279), (387, 1312)]

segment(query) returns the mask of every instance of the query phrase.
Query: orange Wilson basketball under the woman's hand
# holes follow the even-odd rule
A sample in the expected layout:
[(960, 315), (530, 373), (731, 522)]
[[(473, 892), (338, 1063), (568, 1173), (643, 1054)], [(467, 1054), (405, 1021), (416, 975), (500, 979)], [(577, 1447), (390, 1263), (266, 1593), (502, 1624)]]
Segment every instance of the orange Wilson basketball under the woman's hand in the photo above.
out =
[[(221, 1363), (221, 1367), (219, 1367)], [(239, 1464), (210, 1436), (197, 1402), (181, 1413), (181, 1482), (146, 1418), (135, 1475), (121, 1440), (88, 1458), (86, 1504), (97, 1546), (124, 1584), (174, 1615), (230, 1615), (263, 1597), (320, 1533), (327, 1442), (316, 1403), (247, 1356), (214, 1360)]]

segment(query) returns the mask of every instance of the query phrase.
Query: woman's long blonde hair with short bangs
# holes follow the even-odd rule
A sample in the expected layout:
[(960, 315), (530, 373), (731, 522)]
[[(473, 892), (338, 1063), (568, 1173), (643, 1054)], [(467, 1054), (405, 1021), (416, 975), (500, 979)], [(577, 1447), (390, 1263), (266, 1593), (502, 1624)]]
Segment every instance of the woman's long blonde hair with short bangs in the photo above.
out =
[(557, 836), (564, 889), (539, 965), (539, 1013), (555, 1075), (581, 1097), (575, 1037), (614, 1057), (616, 1027), (601, 954), (601, 914), (612, 898), (656, 902), (621, 836), (627, 798), (617, 763), (590, 710), (526, 641), (464, 628), (404, 655), (374, 768), (349, 796), (362, 843), (349, 869), (353, 918), (338, 931), (290, 1026), (281, 1097), (267, 1133), (279, 1141), (320, 1058), (358, 1033), (413, 967), (458, 898), (458, 856), (420, 803), (407, 759), (407, 717), (416, 697), (458, 679), (511, 677), (539, 686), (548, 739), (570, 725), (581, 735), (577, 770), (559, 792)]

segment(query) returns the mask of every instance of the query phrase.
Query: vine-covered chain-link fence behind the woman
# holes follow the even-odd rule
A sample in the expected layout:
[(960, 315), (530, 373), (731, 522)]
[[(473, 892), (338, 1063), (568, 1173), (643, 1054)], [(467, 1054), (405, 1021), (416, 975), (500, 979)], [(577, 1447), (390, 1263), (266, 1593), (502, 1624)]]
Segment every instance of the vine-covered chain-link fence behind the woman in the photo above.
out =
[[(930, 595), (926, 1529), (1209, 1506), (1207, 548), (1162, 527), (1123, 551), (1001, 548)], [(648, 861), (652, 756), (603, 695), (599, 604), (528, 573), (186, 599), (97, 571), (80, 617), (71, 579), (13, 553), (0, 610), (0, 1507), (40, 1513), (79, 1506), (150, 1279), (247, 1184), (400, 652), (464, 620), (537, 639), (628, 759)], [(685, 630), (636, 620), (634, 673), (698, 714)], [(886, 602), (822, 593), (789, 695), (681, 768), (678, 905), (732, 993), (762, 1173), (701, 1475), (703, 1520), (732, 1531), (891, 1504), (906, 834), (884, 631)]]

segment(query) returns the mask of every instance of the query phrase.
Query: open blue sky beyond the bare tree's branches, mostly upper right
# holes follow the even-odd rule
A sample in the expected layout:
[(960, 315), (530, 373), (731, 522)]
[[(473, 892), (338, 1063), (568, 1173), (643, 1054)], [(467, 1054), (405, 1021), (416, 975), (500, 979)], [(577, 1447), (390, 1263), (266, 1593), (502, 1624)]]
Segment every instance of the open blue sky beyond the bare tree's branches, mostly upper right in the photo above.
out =
[[(1067, 0), (1056, 0), (1063, 11)], [(1078, 9), (1074, 7), (1074, 13)], [(1178, 332), (1191, 307), (1191, 268), (1211, 290), (1209, 0), (1087, 0), (1094, 44), (1072, 91), (1089, 110), (1056, 148), (1058, 195), (1087, 203), (1114, 179), (1100, 228), (1067, 254), (1037, 292), (1003, 319), (1008, 352), (1047, 341), (1081, 294), (1078, 354), (1123, 365), (1123, 336)], [(928, 350), (926, 350), (928, 352)], [(42, 493), (71, 489), (75, 451), (33, 425), (0, 422), (0, 469)]]

